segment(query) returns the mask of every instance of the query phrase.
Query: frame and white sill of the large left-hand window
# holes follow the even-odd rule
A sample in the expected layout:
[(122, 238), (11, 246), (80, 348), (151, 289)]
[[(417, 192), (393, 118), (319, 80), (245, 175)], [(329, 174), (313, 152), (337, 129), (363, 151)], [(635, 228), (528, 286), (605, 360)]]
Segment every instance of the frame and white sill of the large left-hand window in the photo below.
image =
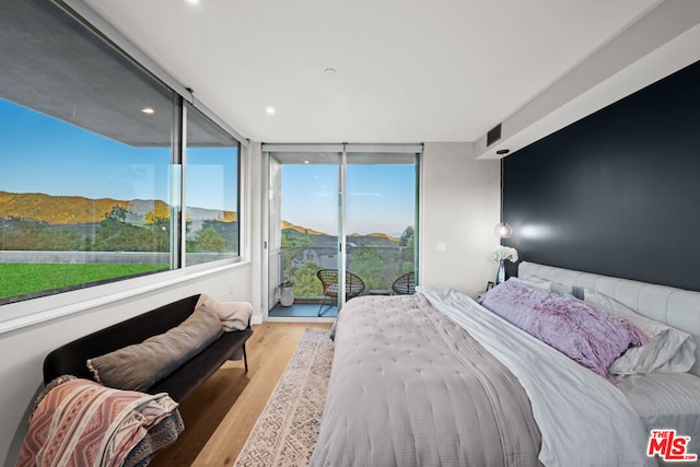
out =
[[(112, 46), (125, 59), (130, 60), (136, 67), (154, 78), (166, 89), (172, 90), (179, 97), (174, 105), (178, 106), (179, 121), (173, 122), (173, 137), (171, 149), (173, 151), (173, 165), (179, 165), (179, 199), (171, 199), (171, 203), (179, 203), (178, 234), (175, 235), (177, 243), (171, 246), (172, 265), (166, 271), (153, 272), (145, 276), (122, 277), (95, 285), (80, 287), (73, 290), (51, 293), (33, 299), (13, 301), (0, 305), (0, 334), (20, 329), (25, 326), (55, 319), (60, 316), (79, 313), (81, 311), (94, 308), (119, 300), (132, 297), (151, 291), (156, 291), (177, 283), (191, 281), (210, 275), (215, 275), (222, 270), (237, 268), (244, 264), (246, 250), (246, 213), (244, 211), (245, 196), (243, 186), (243, 171), (246, 170), (245, 159), (248, 155), (249, 141), (242, 137), (231, 126), (223, 121), (217, 114), (199, 102), (191, 90), (183, 86), (176, 79), (158, 66), (152, 59), (141, 52), (125, 36), (117, 32), (112, 25), (103, 20), (91, 7), (81, 0), (54, 0), (55, 4), (61, 8), (66, 14), (72, 16), (77, 22), (90, 30), (95, 40), (103, 40)], [(186, 115), (185, 102), (196, 108), (202, 116), (209, 119), (214, 126), (228, 133), (237, 142), (237, 220), (238, 220), (238, 249), (237, 255), (210, 262), (187, 267), (185, 264), (185, 189), (183, 180), (186, 179), (186, 126), (183, 116)], [(177, 250), (176, 253), (174, 253)]]

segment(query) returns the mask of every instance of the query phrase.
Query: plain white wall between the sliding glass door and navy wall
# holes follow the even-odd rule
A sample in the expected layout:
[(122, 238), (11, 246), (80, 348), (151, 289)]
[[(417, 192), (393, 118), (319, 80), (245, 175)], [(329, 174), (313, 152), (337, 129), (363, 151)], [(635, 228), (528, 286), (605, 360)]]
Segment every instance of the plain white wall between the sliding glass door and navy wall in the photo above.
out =
[(475, 297), (495, 278), (500, 161), (476, 160), (471, 143), (432, 142), (421, 165), (419, 284)]

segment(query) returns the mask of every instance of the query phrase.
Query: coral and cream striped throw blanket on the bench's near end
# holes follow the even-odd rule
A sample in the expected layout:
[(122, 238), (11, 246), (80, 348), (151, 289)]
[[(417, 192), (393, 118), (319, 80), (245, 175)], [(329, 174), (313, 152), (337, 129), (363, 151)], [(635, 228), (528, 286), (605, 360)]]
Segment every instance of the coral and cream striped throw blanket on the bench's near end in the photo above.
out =
[(16, 465), (125, 465), (149, 430), (172, 415), (179, 421), (168, 423), (176, 431), (170, 442), (175, 441), (183, 430), (177, 406), (164, 393), (120, 390), (61, 376), (39, 395)]

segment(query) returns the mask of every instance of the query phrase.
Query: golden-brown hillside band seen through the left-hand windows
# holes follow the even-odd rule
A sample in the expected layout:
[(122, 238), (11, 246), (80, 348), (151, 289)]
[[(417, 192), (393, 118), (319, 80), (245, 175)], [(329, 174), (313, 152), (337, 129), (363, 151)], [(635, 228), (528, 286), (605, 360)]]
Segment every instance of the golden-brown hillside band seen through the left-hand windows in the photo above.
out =
[[(92, 199), (81, 196), (0, 191), (0, 219), (24, 219), (51, 225), (96, 223), (104, 220), (105, 214), (115, 206), (129, 210), (127, 222), (137, 225), (151, 221), (152, 217), (170, 217), (170, 206), (158, 199)], [(221, 219), (226, 222), (235, 222), (237, 219), (235, 212), (205, 208), (189, 208), (187, 214), (188, 220), (195, 223), (207, 219)]]

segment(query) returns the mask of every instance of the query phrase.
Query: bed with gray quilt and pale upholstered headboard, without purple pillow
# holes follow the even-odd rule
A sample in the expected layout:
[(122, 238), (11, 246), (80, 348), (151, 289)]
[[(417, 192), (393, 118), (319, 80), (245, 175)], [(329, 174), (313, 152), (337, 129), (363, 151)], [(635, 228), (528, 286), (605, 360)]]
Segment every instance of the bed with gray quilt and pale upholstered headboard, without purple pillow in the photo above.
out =
[(660, 358), (658, 336), (630, 326), (638, 316), (687, 338), (656, 367), (599, 374), (454, 290), (353, 299), (335, 326), (311, 465), (656, 465), (679, 451), (660, 439), (648, 456), (655, 429), (690, 436), (680, 455), (700, 453), (700, 293), (532, 262), (518, 280), (534, 296), (631, 308), (634, 319), (615, 320), (639, 340), (622, 357)]

